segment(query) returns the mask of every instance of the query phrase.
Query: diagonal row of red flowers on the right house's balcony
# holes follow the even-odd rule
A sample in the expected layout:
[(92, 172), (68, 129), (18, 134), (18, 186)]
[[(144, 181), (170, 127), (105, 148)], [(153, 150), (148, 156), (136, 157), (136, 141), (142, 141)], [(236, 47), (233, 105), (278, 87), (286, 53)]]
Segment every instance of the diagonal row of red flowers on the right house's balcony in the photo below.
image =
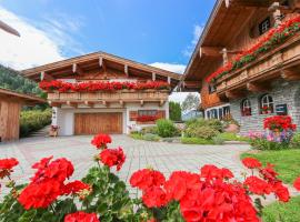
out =
[(207, 82), (216, 81), (231, 71), (238, 70), (243, 65), (254, 61), (262, 53), (266, 53), (278, 44), (283, 43), (287, 39), (296, 36), (300, 31), (300, 17), (292, 18), (277, 28), (271, 29), (264, 38), (250, 49), (237, 56), (232, 62), (219, 68), (216, 72), (207, 77)]

